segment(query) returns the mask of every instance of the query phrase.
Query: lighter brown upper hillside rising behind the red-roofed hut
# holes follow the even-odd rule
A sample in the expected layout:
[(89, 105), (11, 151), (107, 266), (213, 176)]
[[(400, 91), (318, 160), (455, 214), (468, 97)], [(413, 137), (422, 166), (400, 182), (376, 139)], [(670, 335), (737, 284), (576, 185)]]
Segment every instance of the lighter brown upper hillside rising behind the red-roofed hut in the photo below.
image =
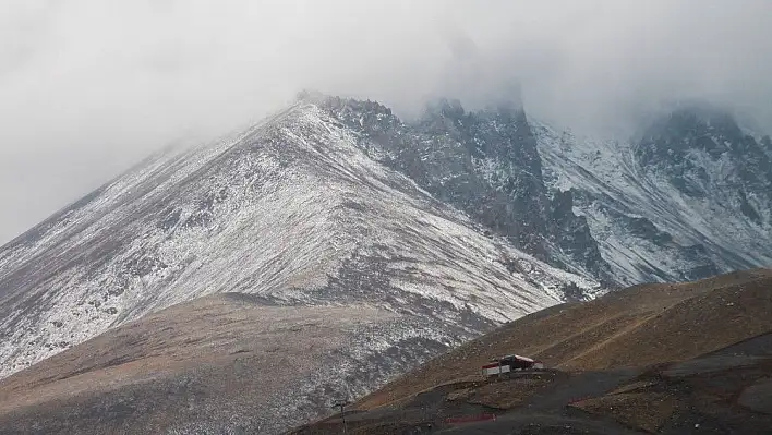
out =
[(562, 370), (684, 361), (772, 330), (772, 270), (631, 287), (511, 322), (443, 354), (358, 402), (361, 410), (474, 377), (491, 358), (521, 353)]

